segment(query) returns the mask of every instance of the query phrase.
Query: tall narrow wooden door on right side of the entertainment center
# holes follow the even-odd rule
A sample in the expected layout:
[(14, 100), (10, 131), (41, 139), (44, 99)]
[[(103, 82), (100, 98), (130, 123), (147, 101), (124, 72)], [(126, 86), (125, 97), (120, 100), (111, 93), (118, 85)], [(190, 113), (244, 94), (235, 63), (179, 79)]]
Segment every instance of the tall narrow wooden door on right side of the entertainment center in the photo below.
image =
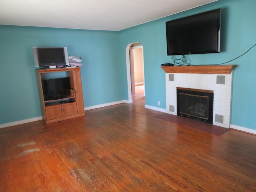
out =
[(74, 73), (74, 87), (76, 94), (77, 112), (84, 113), (84, 98), (82, 89), (82, 80), (80, 70), (73, 71)]

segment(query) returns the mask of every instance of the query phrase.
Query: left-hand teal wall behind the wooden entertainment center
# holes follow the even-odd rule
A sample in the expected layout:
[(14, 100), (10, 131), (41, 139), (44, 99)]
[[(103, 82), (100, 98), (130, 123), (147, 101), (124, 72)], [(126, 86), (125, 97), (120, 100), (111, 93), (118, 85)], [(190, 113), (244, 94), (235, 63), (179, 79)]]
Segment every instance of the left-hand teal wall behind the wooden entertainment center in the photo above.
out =
[(42, 116), (32, 47), (83, 59), (84, 106), (124, 100), (118, 32), (0, 25), (0, 124)]

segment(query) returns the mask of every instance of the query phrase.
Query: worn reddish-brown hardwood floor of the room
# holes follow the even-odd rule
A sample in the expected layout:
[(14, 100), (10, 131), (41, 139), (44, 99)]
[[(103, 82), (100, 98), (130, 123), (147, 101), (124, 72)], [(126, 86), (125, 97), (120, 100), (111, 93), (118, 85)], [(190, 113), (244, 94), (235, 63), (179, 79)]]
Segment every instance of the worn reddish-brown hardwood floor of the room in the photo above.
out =
[(0, 129), (0, 191), (256, 191), (255, 135), (207, 134), (141, 102)]

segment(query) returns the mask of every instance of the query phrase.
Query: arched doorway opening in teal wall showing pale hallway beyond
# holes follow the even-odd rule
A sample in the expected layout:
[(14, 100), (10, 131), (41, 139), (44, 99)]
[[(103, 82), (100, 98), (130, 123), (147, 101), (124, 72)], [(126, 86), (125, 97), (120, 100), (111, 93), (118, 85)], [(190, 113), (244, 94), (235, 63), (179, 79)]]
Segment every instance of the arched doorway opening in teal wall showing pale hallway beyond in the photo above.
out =
[(126, 47), (126, 69), (128, 83), (128, 102), (134, 102), (135, 95), (143, 91), (145, 100), (143, 46), (140, 42), (128, 44)]

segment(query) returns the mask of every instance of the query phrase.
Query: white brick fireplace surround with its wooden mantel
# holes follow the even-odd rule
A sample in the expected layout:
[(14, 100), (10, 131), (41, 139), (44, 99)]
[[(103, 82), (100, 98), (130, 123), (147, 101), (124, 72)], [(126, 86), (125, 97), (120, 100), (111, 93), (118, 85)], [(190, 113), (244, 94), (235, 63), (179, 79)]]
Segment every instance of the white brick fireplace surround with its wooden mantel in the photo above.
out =
[(214, 91), (213, 124), (230, 128), (234, 66), (170, 66), (166, 72), (166, 112), (177, 115), (176, 88)]

